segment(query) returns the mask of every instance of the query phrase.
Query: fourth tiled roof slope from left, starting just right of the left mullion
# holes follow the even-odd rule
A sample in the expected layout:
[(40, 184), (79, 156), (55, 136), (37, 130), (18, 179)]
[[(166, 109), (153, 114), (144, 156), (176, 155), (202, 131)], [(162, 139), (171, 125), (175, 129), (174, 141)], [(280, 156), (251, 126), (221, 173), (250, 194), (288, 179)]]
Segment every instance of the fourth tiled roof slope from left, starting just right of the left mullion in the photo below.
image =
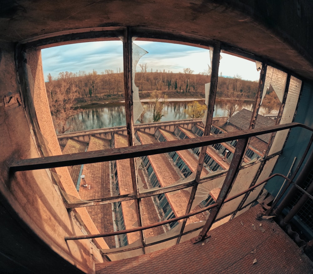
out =
[[(157, 142), (156, 139), (151, 134), (144, 133), (141, 131), (137, 131), (137, 134), (142, 144)], [(169, 161), (165, 153), (150, 155), (148, 156), (148, 158), (150, 160), (152, 168), (155, 171), (155, 174), (158, 178), (161, 187), (172, 185), (180, 179), (175, 168), (172, 166), (172, 163)], [(166, 193), (165, 196), (167, 197), (167, 200), (171, 205), (175, 216), (181, 216), (186, 213), (187, 204), (190, 198), (190, 193), (187, 190), (182, 189), (175, 191), (174, 193)], [(187, 224), (195, 223), (205, 219), (205, 217), (203, 217), (203, 219), (200, 217), (199, 216), (190, 217), (187, 220)]]

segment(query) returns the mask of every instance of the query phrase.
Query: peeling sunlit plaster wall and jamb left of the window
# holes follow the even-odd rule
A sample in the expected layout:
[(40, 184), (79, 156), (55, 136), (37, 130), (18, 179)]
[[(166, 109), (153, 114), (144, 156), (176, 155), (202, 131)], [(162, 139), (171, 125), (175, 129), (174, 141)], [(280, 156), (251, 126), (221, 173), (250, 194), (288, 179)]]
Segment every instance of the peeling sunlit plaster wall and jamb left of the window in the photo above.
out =
[[(1, 98), (4, 98), (11, 93), (13, 95), (19, 93), (19, 85), (14, 60), (14, 45), (0, 43), (0, 48), (0, 93)], [(49, 132), (46, 139), (52, 153), (60, 154), (60, 149), (58, 151), (55, 147), (57, 140), (49, 115), (49, 108), (47, 109), (47, 96), (45, 90), (42, 90), (44, 82), (40, 51), (33, 51), (27, 57), (28, 65), (30, 65), (34, 77), (34, 103), (37, 106), (36, 114), (40, 129), (43, 133)], [(22, 101), (24, 97), (22, 96)], [(4, 101), (6, 100), (4, 98)], [(33, 130), (35, 127), (33, 127), (26, 114), (29, 111), (24, 110), (24, 106), (26, 110), (28, 109), (25, 103), (27, 100), (23, 101), (22, 105), (16, 102), (7, 107), (4, 106), (4, 101), (2, 100), (0, 104), (0, 134), (2, 140), (0, 143), (0, 203), (1, 211), (3, 211), (0, 215), (0, 221), (2, 223), (6, 215), (10, 217), (13, 215), (12, 224), (18, 223), (18, 226), (22, 228), (22, 234), (24, 232), (28, 232), (28, 234), (23, 237), (14, 225), (13, 230), (1, 228), (1, 247), (2, 252), (4, 252), (1, 256), (3, 254), (6, 256), (5, 251), (7, 251), (8, 258), (10, 260), (14, 258), (21, 265), (23, 273), (28, 273), (27, 269), (33, 269), (33, 267), (34, 269), (37, 268), (37, 273), (51, 273), (50, 271), (55, 273), (58, 268), (59, 271), (77, 271), (77, 273), (80, 273), (78, 269), (81, 269), (86, 273), (93, 273), (94, 263), (102, 262), (103, 258), (98, 248), (90, 240), (65, 242), (65, 236), (82, 235), (85, 228), (79, 224), (74, 213), (67, 211), (65, 208), (59, 189), (53, 183), (50, 171), (43, 169), (9, 174), (9, 167), (15, 160), (37, 158), (42, 155), (36, 145), (40, 134)], [(61, 182), (64, 189), (77, 195), (67, 168), (60, 168), (57, 172), (62, 176)], [(71, 190), (71, 186), (73, 186), (73, 190)], [(9, 212), (14, 213), (7, 214)], [(87, 230), (97, 233), (86, 210), (80, 209), (77, 212), (83, 220), (86, 220)], [(9, 227), (10, 224), (7, 222), (6, 224)], [(39, 239), (37, 236), (39, 236)], [(37, 255), (35, 251), (32, 251), (27, 255), (25, 251), (16, 250), (16, 247), (14, 250), (14, 247), (11, 246), (12, 242), (6, 239), (14, 239), (15, 237), (21, 241), (21, 247), (25, 246), (26, 241), (33, 239), (29, 249), (41, 250), (42, 252)], [(103, 240), (102, 242), (101, 240), (98, 241), (97, 245), (102, 248), (106, 246)], [(13, 253), (11, 253), (11, 249), (14, 250)], [(50, 249), (56, 253), (50, 251)], [(22, 252), (22, 254), (19, 254), (19, 252)], [(53, 255), (51, 256), (50, 253)], [(36, 258), (36, 266), (33, 265), (32, 254), (41, 257)], [(25, 260), (27, 256), (30, 257), (29, 260)], [(38, 264), (38, 261), (42, 263)], [(56, 265), (57, 267), (55, 267)], [(70, 270), (71, 265), (76, 266), (78, 269), (73, 267)]]

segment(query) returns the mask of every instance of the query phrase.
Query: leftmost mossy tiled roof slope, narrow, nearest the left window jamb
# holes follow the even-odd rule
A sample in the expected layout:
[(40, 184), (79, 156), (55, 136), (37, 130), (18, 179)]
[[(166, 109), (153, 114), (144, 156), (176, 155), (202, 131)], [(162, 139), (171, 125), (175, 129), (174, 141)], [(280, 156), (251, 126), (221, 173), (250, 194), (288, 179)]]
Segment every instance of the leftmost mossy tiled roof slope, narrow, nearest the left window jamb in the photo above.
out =
[[(79, 153), (79, 152), (85, 152), (87, 147), (87, 143), (85, 142), (80, 142), (74, 139), (69, 139), (62, 151), (63, 154), (71, 154), (71, 153)], [(76, 186), (79, 173), (80, 173), (80, 165), (76, 166), (70, 166), (67, 167), (69, 170), (69, 174), (72, 177), (73, 183)]]

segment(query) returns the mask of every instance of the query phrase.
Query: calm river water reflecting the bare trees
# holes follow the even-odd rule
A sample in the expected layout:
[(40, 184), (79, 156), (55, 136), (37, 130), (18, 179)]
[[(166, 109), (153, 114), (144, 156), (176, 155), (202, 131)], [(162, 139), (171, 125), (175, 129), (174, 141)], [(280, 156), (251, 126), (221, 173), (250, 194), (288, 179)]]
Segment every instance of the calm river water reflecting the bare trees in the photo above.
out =
[[(184, 112), (187, 109), (187, 102), (165, 102), (162, 110), (162, 121), (178, 121), (189, 119), (189, 117)], [(153, 116), (153, 106), (150, 102), (143, 102), (144, 113), (142, 115), (143, 123), (151, 123)], [(223, 117), (227, 116), (227, 111), (225, 110), (225, 102), (218, 101), (215, 104), (213, 117)], [(252, 102), (244, 101), (241, 108), (252, 110)], [(95, 105), (88, 106), (83, 109), (78, 115), (74, 116), (70, 121), (72, 124), (71, 131), (85, 131), (106, 127), (120, 127), (126, 126), (126, 115), (125, 106), (121, 105)], [(140, 123), (140, 121), (136, 121)]]

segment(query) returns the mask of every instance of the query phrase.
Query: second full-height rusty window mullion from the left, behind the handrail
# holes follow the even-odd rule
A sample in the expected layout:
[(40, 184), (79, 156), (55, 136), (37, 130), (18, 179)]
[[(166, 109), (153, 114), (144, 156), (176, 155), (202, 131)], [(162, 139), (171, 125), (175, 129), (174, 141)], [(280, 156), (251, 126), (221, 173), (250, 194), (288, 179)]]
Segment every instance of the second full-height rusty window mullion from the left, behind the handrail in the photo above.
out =
[[(211, 85), (210, 85), (210, 91), (209, 91), (209, 101), (208, 101), (208, 115), (207, 120), (205, 123), (204, 133), (203, 135), (210, 135), (211, 125), (212, 125), (212, 118), (213, 118), (213, 112), (214, 112), (214, 105), (215, 105), (215, 97), (216, 97), (216, 89), (217, 89), (217, 82), (218, 82), (218, 68), (219, 68), (219, 59), (220, 59), (220, 51), (221, 51), (221, 44), (217, 43), (213, 47), (213, 58), (212, 58), (212, 73), (211, 73)], [(188, 214), (191, 210), (191, 206), (193, 203), (193, 200), (195, 198), (198, 183), (200, 180), (200, 175), (203, 167), (203, 161), (204, 156), (206, 154), (207, 147), (202, 147), (201, 152), (199, 154), (199, 161), (198, 161), (198, 167), (196, 171), (196, 177), (195, 182), (197, 185), (192, 187), (189, 202), (186, 209), (186, 214)], [(180, 236), (177, 238), (177, 244), (179, 244), (180, 239), (182, 237), (182, 233), (185, 229), (187, 219), (183, 220), (182, 228), (180, 231)]]

